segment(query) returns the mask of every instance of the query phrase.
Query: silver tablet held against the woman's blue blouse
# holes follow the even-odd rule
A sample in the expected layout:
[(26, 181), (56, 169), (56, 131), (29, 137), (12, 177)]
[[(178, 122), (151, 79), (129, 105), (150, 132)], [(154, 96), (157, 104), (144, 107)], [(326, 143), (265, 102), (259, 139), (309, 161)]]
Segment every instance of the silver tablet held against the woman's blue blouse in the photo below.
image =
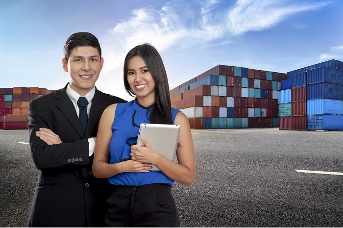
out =
[[(155, 153), (173, 162), (179, 141), (180, 128), (180, 125), (141, 124), (139, 127), (137, 146), (144, 146), (141, 141), (141, 136), (143, 136)], [(151, 170), (159, 171), (154, 165), (152, 165)]]

